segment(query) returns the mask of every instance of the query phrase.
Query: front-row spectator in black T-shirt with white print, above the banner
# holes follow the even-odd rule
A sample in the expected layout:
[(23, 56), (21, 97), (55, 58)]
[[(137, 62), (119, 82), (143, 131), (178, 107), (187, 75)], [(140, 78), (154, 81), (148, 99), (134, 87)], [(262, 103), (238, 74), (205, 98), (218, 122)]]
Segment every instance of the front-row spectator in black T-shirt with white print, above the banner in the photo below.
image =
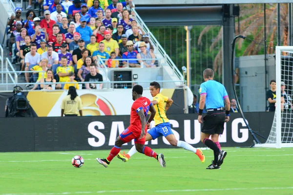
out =
[(97, 73), (96, 65), (92, 63), (89, 67), (90, 73), (87, 74), (84, 78), (85, 82), (92, 82), (92, 83), (85, 83), (86, 89), (102, 89), (103, 83), (96, 83), (96, 82), (103, 82), (103, 77), (101, 74)]

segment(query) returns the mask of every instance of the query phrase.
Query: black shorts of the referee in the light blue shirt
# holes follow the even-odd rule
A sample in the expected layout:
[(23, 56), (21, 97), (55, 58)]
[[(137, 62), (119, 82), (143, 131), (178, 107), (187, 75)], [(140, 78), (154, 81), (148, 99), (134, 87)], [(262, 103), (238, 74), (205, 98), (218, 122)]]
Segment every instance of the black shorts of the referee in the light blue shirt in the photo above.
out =
[(225, 110), (207, 112), (203, 117), (204, 124), (201, 131), (209, 135), (223, 134), (225, 117)]

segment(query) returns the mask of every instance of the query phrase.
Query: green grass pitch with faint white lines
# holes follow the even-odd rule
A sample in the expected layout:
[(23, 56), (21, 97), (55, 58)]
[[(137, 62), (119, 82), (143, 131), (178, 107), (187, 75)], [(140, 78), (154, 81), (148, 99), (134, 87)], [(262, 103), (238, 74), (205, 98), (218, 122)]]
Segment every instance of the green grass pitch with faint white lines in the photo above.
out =
[[(109, 150), (0, 153), (0, 195), (293, 195), (293, 148), (223, 149), (220, 170), (206, 170), (211, 150), (202, 164), (183, 149), (156, 149), (166, 168), (139, 153), (105, 168), (96, 157)], [(71, 165), (75, 155), (84, 157), (83, 167)]]

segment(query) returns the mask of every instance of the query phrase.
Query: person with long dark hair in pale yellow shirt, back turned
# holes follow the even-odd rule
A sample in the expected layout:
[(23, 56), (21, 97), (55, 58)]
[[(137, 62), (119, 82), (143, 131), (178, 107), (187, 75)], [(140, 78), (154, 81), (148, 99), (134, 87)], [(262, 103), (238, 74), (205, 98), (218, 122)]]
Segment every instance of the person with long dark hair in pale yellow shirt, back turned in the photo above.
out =
[(70, 86), (67, 96), (62, 100), (61, 117), (77, 117), (78, 113), (83, 116), (82, 99), (78, 97), (74, 86)]

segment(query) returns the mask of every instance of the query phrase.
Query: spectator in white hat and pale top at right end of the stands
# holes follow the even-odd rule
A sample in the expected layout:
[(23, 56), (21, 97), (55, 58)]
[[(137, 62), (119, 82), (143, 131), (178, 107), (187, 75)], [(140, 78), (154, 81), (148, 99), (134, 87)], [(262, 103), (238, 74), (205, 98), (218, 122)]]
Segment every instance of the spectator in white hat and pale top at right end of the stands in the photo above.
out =
[[(137, 59), (138, 62), (141, 64), (141, 66), (146, 67), (146, 68), (156, 68), (157, 66), (155, 65), (155, 55), (153, 53), (150, 53), (146, 49), (146, 43), (143, 41), (140, 43), (139, 48), (141, 50), (140, 53), (137, 54)], [(149, 59), (149, 60), (139, 60), (139, 59)]]

